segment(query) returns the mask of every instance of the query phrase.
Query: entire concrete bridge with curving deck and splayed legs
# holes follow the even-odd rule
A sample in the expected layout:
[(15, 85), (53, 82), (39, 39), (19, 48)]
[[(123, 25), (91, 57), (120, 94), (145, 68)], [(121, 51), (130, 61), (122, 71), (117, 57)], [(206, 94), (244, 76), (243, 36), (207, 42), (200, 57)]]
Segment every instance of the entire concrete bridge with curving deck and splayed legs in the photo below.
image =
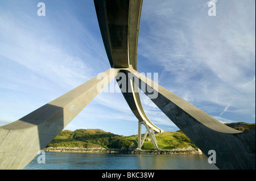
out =
[[(103, 79), (90, 79), (38, 110), (0, 127), (0, 169), (23, 169), (38, 150), (59, 134), (114, 78), (138, 119), (138, 149), (141, 149), (145, 138), (141, 139), (142, 124), (156, 149), (154, 133), (163, 132), (148, 119), (139, 98), (138, 88), (150, 87), (157, 96), (152, 97), (148, 89), (144, 89), (144, 93), (205, 155), (209, 156), (209, 150), (216, 151), (215, 165), (219, 169), (255, 169), (255, 127), (243, 133), (229, 128), (138, 73), (137, 45), (142, 0), (94, 0), (94, 4), (111, 69), (102, 73)], [(125, 78), (126, 85), (120, 77)]]

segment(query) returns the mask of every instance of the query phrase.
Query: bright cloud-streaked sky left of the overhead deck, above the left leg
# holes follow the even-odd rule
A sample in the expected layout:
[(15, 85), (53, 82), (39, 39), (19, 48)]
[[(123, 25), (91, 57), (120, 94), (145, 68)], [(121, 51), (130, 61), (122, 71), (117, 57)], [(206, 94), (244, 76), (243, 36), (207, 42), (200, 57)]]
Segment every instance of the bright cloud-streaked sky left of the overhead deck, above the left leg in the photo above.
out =
[(110, 68), (101, 36), (92, 36), (88, 25), (69, 12), (72, 9), (51, 15), (48, 3), (47, 15), (38, 17), (36, 11), (31, 14), (36, 10), (30, 9), (31, 2), (1, 4), (0, 116), (8, 120), (1, 125)]

